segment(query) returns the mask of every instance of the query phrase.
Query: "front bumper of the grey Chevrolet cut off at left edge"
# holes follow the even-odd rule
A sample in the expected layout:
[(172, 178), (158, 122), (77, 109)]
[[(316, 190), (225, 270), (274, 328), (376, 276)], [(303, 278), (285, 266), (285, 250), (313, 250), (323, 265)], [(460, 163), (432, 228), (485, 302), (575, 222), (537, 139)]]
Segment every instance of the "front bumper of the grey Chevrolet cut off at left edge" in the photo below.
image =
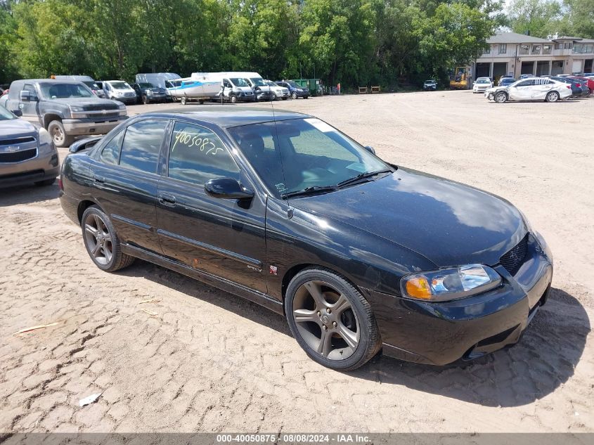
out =
[(58, 151), (10, 164), (0, 164), (0, 187), (14, 187), (44, 181), (60, 174)]

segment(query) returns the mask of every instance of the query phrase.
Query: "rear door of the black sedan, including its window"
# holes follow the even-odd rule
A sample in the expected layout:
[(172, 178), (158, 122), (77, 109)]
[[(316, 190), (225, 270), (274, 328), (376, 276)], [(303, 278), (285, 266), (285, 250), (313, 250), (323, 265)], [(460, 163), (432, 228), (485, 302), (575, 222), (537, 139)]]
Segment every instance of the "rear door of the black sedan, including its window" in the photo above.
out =
[(99, 148), (90, 167), (93, 195), (123, 243), (162, 253), (157, 236), (158, 164), (169, 120), (137, 120)]

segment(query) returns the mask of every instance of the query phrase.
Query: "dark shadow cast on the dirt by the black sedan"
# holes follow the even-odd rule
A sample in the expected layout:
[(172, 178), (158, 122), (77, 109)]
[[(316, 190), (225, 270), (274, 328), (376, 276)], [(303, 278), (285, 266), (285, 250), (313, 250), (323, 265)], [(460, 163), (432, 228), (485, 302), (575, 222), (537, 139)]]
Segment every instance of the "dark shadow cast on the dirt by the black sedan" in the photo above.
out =
[[(138, 261), (120, 273), (143, 276), (266, 325), (278, 333), (291, 335), (282, 316), (160, 266)], [(472, 362), (441, 367), (380, 355), (348, 374), (382, 385), (404, 385), (483, 406), (521, 406), (550, 394), (572, 377), (588, 333), (590, 320), (580, 302), (567, 292), (552, 288), (548, 302), (514, 347)], [(295, 342), (295, 348), (298, 347)]]

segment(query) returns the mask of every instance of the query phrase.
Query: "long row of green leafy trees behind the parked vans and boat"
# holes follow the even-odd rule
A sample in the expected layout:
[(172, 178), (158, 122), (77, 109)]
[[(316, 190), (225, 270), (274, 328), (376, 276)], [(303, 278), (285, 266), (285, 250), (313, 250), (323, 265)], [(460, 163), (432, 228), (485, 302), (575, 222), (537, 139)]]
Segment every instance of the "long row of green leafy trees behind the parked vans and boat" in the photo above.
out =
[[(572, 0), (594, 1), (594, 0)], [(0, 84), (254, 70), (418, 84), (482, 53), (499, 0), (0, 0)]]

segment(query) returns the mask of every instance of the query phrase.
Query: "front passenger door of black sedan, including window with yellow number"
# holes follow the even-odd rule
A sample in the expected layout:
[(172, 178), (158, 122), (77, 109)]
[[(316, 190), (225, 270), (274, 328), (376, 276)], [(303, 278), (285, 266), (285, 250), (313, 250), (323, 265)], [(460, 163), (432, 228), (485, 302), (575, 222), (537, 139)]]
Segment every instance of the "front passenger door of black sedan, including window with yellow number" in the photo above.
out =
[(167, 177), (157, 190), (159, 238), (167, 257), (266, 292), (266, 197), (255, 193), (247, 202), (213, 198), (204, 188), (210, 179), (232, 178), (254, 190), (230, 146), (214, 127), (174, 123)]

